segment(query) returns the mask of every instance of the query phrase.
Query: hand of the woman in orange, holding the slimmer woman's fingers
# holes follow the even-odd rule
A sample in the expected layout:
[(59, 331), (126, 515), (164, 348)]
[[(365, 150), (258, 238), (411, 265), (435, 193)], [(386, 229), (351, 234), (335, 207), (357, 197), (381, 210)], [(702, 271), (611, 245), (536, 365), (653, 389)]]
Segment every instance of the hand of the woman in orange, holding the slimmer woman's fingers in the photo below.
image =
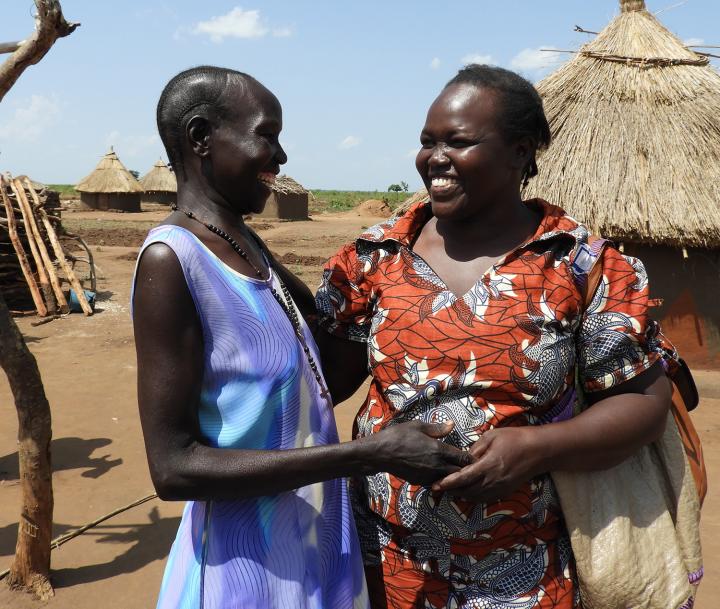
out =
[(433, 491), (488, 503), (510, 495), (538, 472), (540, 452), (531, 427), (503, 427), (485, 432), (470, 447), (475, 461), (438, 480)]

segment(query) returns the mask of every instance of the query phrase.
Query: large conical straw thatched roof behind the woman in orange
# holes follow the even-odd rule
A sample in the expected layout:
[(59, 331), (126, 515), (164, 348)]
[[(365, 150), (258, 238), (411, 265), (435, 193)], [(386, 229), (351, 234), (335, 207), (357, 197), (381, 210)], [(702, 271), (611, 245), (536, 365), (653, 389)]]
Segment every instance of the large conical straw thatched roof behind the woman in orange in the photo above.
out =
[(537, 85), (554, 142), (523, 194), (614, 239), (720, 247), (720, 74), (642, 0), (620, 5)]

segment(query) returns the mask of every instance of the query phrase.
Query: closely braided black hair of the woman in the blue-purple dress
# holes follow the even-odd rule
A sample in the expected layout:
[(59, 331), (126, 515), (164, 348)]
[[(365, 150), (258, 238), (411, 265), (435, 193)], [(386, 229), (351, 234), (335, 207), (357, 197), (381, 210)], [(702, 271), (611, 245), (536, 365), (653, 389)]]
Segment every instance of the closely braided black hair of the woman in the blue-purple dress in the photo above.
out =
[(184, 70), (165, 85), (157, 107), (157, 125), (170, 165), (184, 175), (182, 145), (193, 116), (209, 120), (225, 118), (228, 109), (221, 97), (229, 86), (257, 83), (252, 76), (229, 68), (198, 66)]

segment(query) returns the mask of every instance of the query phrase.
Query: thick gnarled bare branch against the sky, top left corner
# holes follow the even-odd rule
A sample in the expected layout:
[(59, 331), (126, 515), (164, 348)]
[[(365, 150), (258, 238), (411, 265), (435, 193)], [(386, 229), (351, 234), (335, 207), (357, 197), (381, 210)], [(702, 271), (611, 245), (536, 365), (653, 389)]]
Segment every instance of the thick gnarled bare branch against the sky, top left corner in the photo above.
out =
[(68, 23), (62, 14), (60, 0), (35, 0), (35, 31), (0, 65), (0, 101), (20, 75), (38, 63), (58, 38), (69, 36), (80, 24)]

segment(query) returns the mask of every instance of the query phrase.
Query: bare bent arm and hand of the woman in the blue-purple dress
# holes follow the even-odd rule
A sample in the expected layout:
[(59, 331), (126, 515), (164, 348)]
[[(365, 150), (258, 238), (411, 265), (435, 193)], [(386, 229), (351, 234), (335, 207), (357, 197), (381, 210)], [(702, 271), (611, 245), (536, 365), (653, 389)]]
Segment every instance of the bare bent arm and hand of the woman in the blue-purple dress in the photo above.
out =
[(429, 484), (470, 460), (468, 453), (435, 439), (451, 427), (422, 423), (313, 448), (208, 446), (196, 416), (204, 368), (202, 329), (182, 269), (164, 244), (151, 245), (140, 260), (134, 329), (140, 419), (152, 480), (163, 499), (272, 495), (377, 471)]

